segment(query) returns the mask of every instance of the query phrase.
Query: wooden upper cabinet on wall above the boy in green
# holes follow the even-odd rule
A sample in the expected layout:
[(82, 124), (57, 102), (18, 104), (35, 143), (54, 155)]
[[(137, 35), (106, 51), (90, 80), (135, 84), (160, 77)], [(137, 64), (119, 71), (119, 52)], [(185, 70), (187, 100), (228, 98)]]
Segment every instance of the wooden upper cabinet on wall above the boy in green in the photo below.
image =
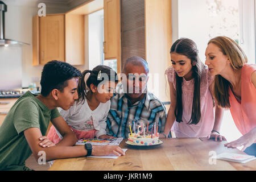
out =
[(51, 60), (84, 64), (84, 16), (48, 14), (33, 18), (33, 65)]

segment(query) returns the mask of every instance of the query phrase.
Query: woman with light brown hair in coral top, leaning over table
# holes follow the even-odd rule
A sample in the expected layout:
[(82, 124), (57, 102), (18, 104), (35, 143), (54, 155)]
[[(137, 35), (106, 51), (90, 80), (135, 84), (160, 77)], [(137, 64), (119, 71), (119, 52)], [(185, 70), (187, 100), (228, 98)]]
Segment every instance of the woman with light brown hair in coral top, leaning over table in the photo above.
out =
[(242, 49), (224, 36), (209, 41), (205, 56), (209, 73), (215, 76), (214, 97), (218, 105), (230, 109), (243, 135), (225, 146), (243, 146), (242, 151), (256, 155), (256, 65), (246, 64)]

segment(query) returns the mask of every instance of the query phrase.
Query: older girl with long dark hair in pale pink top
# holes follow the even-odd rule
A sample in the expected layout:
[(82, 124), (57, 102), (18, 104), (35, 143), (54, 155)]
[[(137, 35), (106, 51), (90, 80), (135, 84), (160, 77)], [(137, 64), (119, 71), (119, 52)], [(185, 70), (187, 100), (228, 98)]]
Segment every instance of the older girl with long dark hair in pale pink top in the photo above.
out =
[[(172, 67), (166, 75), (170, 86), (171, 106), (164, 134), (173, 127), (176, 137), (210, 137), (222, 140), (222, 109), (216, 107), (210, 93), (213, 77), (199, 60), (195, 42), (181, 38), (171, 47)], [(176, 122), (175, 122), (176, 121)]]

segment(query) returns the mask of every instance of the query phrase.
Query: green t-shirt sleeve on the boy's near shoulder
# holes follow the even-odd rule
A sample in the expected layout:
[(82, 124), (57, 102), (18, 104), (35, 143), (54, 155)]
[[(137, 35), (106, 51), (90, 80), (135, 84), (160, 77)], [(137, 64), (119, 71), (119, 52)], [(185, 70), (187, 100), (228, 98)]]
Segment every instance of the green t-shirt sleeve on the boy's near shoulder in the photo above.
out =
[(38, 127), (40, 129), (38, 107), (36, 107), (32, 100), (24, 100), (18, 103), (13, 123), (18, 134), (31, 127)]

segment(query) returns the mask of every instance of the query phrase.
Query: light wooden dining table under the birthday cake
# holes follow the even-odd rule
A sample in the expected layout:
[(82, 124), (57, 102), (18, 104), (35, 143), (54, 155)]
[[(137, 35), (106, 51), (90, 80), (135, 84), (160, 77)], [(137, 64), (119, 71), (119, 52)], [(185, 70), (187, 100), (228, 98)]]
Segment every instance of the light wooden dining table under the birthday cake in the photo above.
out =
[(131, 147), (125, 141), (121, 148), (127, 148), (124, 156), (117, 159), (69, 158), (55, 160), (49, 168), (55, 170), (84, 171), (233, 171), (256, 170), (256, 160), (242, 164), (213, 159), (222, 152), (245, 154), (237, 148), (227, 148), (226, 141), (215, 142), (205, 138), (167, 138), (159, 146)]

